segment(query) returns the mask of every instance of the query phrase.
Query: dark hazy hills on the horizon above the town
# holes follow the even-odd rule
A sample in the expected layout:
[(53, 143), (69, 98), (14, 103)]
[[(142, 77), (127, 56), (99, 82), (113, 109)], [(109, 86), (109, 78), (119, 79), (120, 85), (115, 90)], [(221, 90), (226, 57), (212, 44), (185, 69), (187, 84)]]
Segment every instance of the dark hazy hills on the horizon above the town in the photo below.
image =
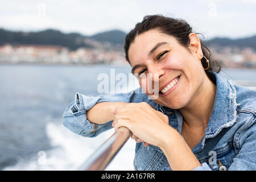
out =
[[(93, 47), (85, 43), (84, 39), (89, 38), (98, 42), (110, 42), (113, 44), (124, 44), (126, 33), (120, 30), (101, 32), (92, 36), (85, 36), (78, 33), (64, 34), (59, 30), (48, 29), (38, 32), (9, 31), (0, 28), (0, 45), (3, 44), (41, 44), (63, 46), (69, 49), (79, 47)], [(251, 47), (256, 50), (256, 35), (248, 38), (229, 39), (214, 38), (205, 41), (209, 46), (230, 46), (230, 47)]]

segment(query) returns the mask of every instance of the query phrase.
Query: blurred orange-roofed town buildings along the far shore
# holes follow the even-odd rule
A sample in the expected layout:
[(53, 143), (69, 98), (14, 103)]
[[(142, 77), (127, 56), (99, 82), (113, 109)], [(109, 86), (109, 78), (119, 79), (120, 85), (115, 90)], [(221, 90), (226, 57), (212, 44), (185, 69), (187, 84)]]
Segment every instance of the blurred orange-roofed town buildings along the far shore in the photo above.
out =
[[(16, 64), (129, 64), (121, 46), (110, 43), (85, 40), (94, 48), (68, 48), (52, 45), (18, 45), (0, 46), (0, 63)], [(222, 67), (256, 69), (256, 52), (253, 48), (212, 47), (214, 59)]]

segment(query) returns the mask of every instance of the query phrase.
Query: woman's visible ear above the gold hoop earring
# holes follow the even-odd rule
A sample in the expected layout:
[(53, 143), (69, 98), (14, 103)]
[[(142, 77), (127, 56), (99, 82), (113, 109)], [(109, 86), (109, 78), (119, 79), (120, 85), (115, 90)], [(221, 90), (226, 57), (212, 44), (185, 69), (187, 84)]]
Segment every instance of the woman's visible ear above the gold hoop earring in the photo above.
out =
[(190, 39), (189, 49), (191, 49), (192, 53), (195, 54), (198, 59), (201, 59), (203, 51), (201, 49), (200, 39), (195, 33), (190, 33), (188, 36)]

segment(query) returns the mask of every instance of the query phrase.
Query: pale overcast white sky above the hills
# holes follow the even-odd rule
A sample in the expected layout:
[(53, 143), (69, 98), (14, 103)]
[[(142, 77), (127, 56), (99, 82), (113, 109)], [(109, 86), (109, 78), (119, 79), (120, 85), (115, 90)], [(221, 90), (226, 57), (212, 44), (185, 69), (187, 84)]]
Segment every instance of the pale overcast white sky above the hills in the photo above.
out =
[(256, 0), (0, 0), (0, 28), (93, 35), (129, 32), (143, 16), (162, 14), (186, 20), (205, 39), (256, 35)]

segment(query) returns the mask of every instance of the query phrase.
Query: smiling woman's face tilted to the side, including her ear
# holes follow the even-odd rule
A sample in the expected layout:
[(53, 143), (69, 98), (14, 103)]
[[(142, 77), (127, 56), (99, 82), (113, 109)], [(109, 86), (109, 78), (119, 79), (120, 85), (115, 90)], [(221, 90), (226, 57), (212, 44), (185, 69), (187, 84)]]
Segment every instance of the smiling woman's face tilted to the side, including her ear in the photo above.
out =
[[(154, 101), (172, 109), (188, 105), (200, 92), (200, 86), (207, 77), (200, 61), (203, 57), (200, 40), (195, 34), (189, 37), (191, 51), (181, 46), (173, 36), (150, 30), (138, 35), (128, 52), (132, 71), (139, 74), (143, 92), (148, 96), (156, 96), (159, 92)], [(152, 74), (150, 85), (154, 93), (146, 89), (148, 73)]]

